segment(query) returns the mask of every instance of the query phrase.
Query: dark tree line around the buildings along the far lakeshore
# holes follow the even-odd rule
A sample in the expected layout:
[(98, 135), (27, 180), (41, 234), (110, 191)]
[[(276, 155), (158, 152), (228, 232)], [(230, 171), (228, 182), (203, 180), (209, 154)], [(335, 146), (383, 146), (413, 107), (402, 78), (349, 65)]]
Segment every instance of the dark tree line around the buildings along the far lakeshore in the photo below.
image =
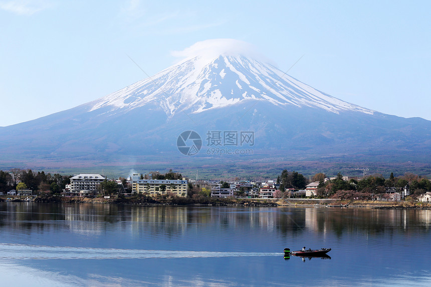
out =
[[(169, 170), (165, 174), (158, 172), (151, 172), (152, 176), (160, 178), (181, 178), (180, 173)], [(145, 176), (148, 176), (145, 174)], [(70, 176), (61, 174), (45, 173), (44, 171), (33, 172), (31, 169), (11, 169), (9, 171), (0, 170), (0, 192), (6, 193), (10, 189), (19, 190), (20, 188), (30, 188), (35, 191), (37, 197), (35, 201), (56, 201), (57, 197), (61, 195), (62, 190), (70, 183)], [(124, 185), (124, 194), (130, 193), (130, 183), (126, 178), (119, 177)], [(117, 181), (118, 181), (117, 180)], [(363, 178), (349, 178), (338, 173), (336, 177), (328, 179), (324, 173), (316, 173), (308, 179), (296, 171), (283, 170), (281, 174), (274, 180), (274, 186), (277, 191), (274, 193), (276, 199), (281, 199), (278, 205), (284, 205), (285, 199), (291, 197), (303, 197), (303, 194), (298, 194), (296, 191), (306, 188), (310, 182), (318, 182), (318, 186), (314, 193), (310, 196), (315, 199), (336, 199), (334, 204), (323, 204), (328, 206), (333, 205), (351, 205), (351, 203), (343, 203), (344, 201), (368, 201), (374, 202), (377, 196), (384, 198), (388, 190), (396, 191), (408, 187), (409, 195), (403, 198), (400, 202), (375, 202), (380, 206), (394, 205), (394, 206), (424, 206), (425, 204), (416, 202), (418, 196), (431, 191), (431, 181), (426, 177), (419, 176), (412, 173), (405, 173), (400, 176), (390, 174), (389, 178), (384, 178), (381, 174), (373, 174), (364, 176)], [(205, 182), (189, 182), (187, 188), (187, 195), (182, 198), (176, 198), (172, 194), (165, 194), (160, 198), (148, 197), (142, 194), (135, 194), (134, 196), (127, 197), (115, 190), (112, 181), (106, 180), (102, 192), (98, 194), (99, 197), (108, 195), (110, 198), (94, 199), (94, 202), (106, 203), (126, 203), (130, 204), (256, 204), (264, 205), (262, 200), (254, 200), (250, 198), (211, 198), (210, 187)], [(223, 184), (224, 182), (221, 181)], [(225, 182), (226, 183), (226, 182)], [(247, 195), (245, 190), (236, 192), (235, 197), (245, 197)], [(8, 196), (0, 197), (7, 199)], [(103, 200), (102, 200), (103, 199)], [(1, 200), (1, 199), (0, 199)], [(19, 199), (17, 199), (19, 200)], [(343, 201), (344, 200), (344, 201)], [(82, 198), (61, 198), (62, 202), (82, 202), (91, 201)], [(230, 202), (230, 203), (228, 203)], [(267, 200), (265, 204), (273, 204), (277, 200)], [(306, 201), (304, 201), (306, 202)], [(301, 204), (296, 202), (295, 205)], [(362, 204), (364, 205), (364, 203)]]

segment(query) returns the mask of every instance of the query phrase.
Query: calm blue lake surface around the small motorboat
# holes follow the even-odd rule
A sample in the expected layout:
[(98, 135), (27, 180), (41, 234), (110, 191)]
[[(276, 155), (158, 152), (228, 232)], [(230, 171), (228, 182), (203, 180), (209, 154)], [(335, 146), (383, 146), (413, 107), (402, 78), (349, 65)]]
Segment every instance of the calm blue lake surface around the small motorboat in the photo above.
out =
[[(431, 210), (0, 203), (0, 285), (431, 285)], [(332, 248), (331, 258), (283, 258)]]

